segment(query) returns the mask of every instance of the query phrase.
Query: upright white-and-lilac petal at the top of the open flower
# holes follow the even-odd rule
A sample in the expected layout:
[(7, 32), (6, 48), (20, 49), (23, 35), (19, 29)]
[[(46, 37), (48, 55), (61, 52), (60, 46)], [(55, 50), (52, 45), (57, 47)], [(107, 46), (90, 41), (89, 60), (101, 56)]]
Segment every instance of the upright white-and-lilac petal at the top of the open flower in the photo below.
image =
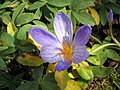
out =
[(63, 12), (58, 12), (54, 18), (54, 29), (61, 43), (71, 43), (73, 38), (73, 26), (70, 18)]

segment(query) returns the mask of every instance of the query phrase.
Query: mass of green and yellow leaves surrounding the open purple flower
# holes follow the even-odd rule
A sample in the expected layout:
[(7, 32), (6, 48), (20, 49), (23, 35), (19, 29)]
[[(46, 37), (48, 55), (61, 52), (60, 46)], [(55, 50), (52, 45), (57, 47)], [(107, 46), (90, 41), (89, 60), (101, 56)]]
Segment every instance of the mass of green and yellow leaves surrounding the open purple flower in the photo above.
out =
[[(108, 27), (109, 9), (113, 10), (114, 16), (120, 15), (119, 1), (0, 1), (0, 90), (82, 90), (88, 88), (92, 78), (111, 75), (119, 66), (120, 47), (113, 43), (109, 31), (103, 30)], [(71, 18), (74, 33), (83, 24), (93, 28), (86, 46), (89, 58), (62, 72), (55, 70), (56, 63), (48, 64), (39, 57), (42, 46), (28, 35), (31, 27), (44, 28), (55, 34), (53, 21), (58, 11)], [(113, 29), (116, 30), (114, 26), (119, 22), (114, 23)], [(119, 34), (117, 31), (113, 33), (118, 40)], [(112, 81), (120, 89), (115, 76)]]

